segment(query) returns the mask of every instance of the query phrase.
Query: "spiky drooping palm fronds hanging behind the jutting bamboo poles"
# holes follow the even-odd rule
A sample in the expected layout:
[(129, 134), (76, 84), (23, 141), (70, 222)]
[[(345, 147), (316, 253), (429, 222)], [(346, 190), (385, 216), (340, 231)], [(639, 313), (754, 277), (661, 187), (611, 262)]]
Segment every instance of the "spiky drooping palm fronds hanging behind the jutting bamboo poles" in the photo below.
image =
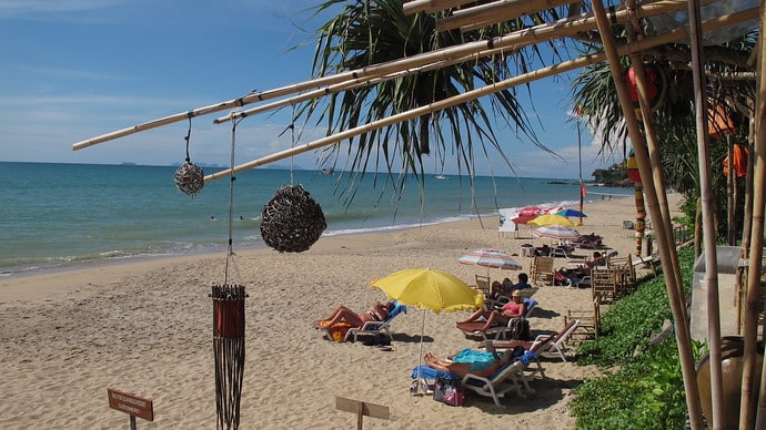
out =
[[(313, 75), (323, 76), (342, 71), (357, 70), (372, 64), (395, 61), (441, 48), (485, 40), (505, 34), (545, 20), (558, 19), (555, 10), (535, 13), (528, 20), (516, 19), (476, 31), (436, 32), (436, 18), (442, 14), (404, 14), (402, 0), (367, 0), (347, 2), (329, 0), (315, 8), (315, 13), (343, 4), (340, 13), (325, 22), (316, 32)], [(560, 47), (551, 44), (550, 55), (560, 55)], [(552, 55), (551, 55), (552, 53)], [(465, 91), (477, 84), (488, 84), (526, 72), (533, 59), (542, 59), (538, 48), (508, 52), (505, 55), (483, 58), (435, 70), (379, 82), (332, 94), (327, 100), (305, 102), (296, 117), (315, 117), (326, 123), (327, 135), (342, 130), (387, 117), (394, 113), (425, 106)], [(381, 130), (362, 134), (349, 142), (326, 147), (322, 163), (335, 165), (347, 156), (345, 171), (364, 172), (385, 170), (389, 175), (399, 167), (405, 174), (421, 180), (423, 157), (436, 153), (444, 162), (447, 153), (455, 155), (457, 171), (473, 178), (477, 155), (487, 160), (500, 153), (513, 172), (511, 158), (495, 132), (497, 124), (510, 125), (545, 150), (530, 125), (527, 113), (517, 100), (515, 89), (498, 91), (486, 100), (475, 100), (454, 108), (426, 114)], [(406, 175), (400, 176), (397, 187), (404, 186)]]

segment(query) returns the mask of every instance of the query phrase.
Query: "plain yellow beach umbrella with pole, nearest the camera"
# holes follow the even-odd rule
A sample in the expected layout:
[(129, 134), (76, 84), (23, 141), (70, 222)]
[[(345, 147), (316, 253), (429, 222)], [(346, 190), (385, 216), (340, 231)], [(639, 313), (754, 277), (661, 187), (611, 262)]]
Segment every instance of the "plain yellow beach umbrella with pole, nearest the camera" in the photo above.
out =
[(371, 286), (382, 289), (390, 300), (423, 309), (421, 328), (421, 348), (417, 355), (417, 378), (410, 386), (410, 393), (416, 395), (429, 389), (421, 377), (423, 357), (423, 332), (425, 332), (425, 310), (431, 309), (452, 313), (455, 310), (475, 310), (484, 306), (484, 294), (471, 288), (461, 278), (446, 272), (430, 268), (411, 268), (393, 273), (381, 279), (373, 279)]

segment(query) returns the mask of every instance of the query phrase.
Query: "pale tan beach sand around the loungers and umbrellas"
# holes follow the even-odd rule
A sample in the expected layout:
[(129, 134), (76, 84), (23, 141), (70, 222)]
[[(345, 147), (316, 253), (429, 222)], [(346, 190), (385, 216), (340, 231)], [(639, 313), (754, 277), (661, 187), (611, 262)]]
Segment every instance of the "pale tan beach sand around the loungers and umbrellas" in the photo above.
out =
[[(672, 211), (679, 196), (668, 195)], [(595, 232), (619, 255), (634, 252), (632, 198), (587, 203), (583, 234)], [(468, 313), (436, 315), (410, 308), (392, 328), (393, 350), (325, 340), (313, 328), (339, 304), (364, 311), (385, 296), (370, 280), (403, 268), (431, 267), (468, 284), (483, 267), (461, 255), (484, 247), (517, 254), (534, 239), (501, 235), (497, 219), (446, 223), (381, 234), (321, 238), (302, 254), (272, 249), (236, 253), (229, 284), (246, 287), (246, 364), (241, 400), (243, 429), (349, 429), (353, 413), (335, 409), (336, 396), (389, 407), (389, 420), (365, 418), (365, 428), (573, 428), (566, 403), (572, 389), (599, 372), (591, 366), (544, 360), (535, 396), (514, 395), (497, 408), (467, 393), (454, 408), (409, 395), (410, 373), (423, 351), (439, 357), (476, 346), (454, 327)], [(234, 244), (235, 248), (235, 244)], [(236, 252), (236, 249), (235, 249)], [(578, 255), (591, 252), (577, 250)], [(107, 389), (153, 400), (154, 421), (138, 427), (215, 428), (211, 286), (223, 284), (225, 255), (196, 255), (98, 265), (0, 280), (0, 427), (3, 429), (115, 429), (129, 417), (109, 408)], [(558, 258), (557, 266), (566, 263)], [(490, 269), (494, 278), (518, 272)], [(543, 287), (530, 318), (533, 335), (558, 331), (567, 309), (591, 308), (591, 291)]]

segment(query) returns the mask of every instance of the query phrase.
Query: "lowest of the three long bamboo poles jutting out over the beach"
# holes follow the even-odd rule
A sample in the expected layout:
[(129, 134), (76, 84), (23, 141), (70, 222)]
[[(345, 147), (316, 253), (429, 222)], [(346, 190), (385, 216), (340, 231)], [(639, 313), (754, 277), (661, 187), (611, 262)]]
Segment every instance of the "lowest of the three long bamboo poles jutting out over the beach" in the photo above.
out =
[[(703, 28), (705, 30), (714, 30), (714, 29), (727, 27), (727, 25), (730, 25), (733, 22), (740, 22), (744, 20), (753, 19), (754, 17), (757, 16), (757, 12), (758, 12), (758, 9), (753, 8), (753, 9), (748, 9), (745, 11), (732, 13), (729, 16), (718, 17), (718, 18), (705, 21), (703, 23)], [(675, 30), (668, 31), (667, 33), (664, 33), (664, 34), (658, 34), (658, 35), (654, 35), (651, 38), (646, 38), (643, 41), (637, 41), (634, 43), (628, 43), (628, 44), (622, 45), (618, 48), (617, 51), (618, 51), (618, 54), (625, 55), (625, 54), (629, 53), (632, 50), (648, 49), (652, 47), (656, 47), (656, 45), (659, 45), (663, 43), (668, 43), (671, 41), (678, 40), (678, 39), (686, 38), (686, 37), (688, 37), (688, 29), (686, 29), (686, 28), (675, 29)], [(413, 109), (410, 111), (401, 112), (399, 114), (385, 117), (383, 120), (374, 121), (374, 122), (369, 123), (369, 124), (363, 124), (363, 125), (360, 125), (360, 126), (354, 127), (354, 129), (349, 129), (349, 130), (345, 130), (343, 132), (340, 132), (340, 133), (336, 133), (336, 134), (325, 136), (325, 137), (319, 139), (316, 141), (306, 143), (304, 145), (295, 146), (295, 147), (290, 149), (290, 150), (281, 151), (281, 152), (264, 156), (262, 158), (258, 158), (258, 160), (254, 160), (254, 161), (251, 161), (248, 163), (240, 164), (240, 165), (232, 167), (232, 168), (215, 172), (213, 174), (205, 176), (204, 180), (205, 181), (214, 181), (214, 180), (219, 180), (221, 177), (226, 177), (226, 176), (230, 176), (232, 174), (236, 174), (239, 172), (254, 168), (254, 167), (258, 167), (258, 166), (261, 166), (264, 164), (273, 163), (275, 161), (280, 161), (280, 160), (293, 156), (293, 155), (299, 155), (299, 154), (302, 154), (304, 152), (312, 151), (312, 150), (315, 150), (315, 149), (319, 149), (322, 146), (331, 145), (331, 144), (340, 142), (342, 140), (351, 139), (351, 137), (356, 136), (359, 134), (366, 133), (366, 132), (370, 132), (373, 130), (377, 130), (377, 129), (384, 127), (386, 125), (392, 125), (392, 124), (395, 124), (395, 123), (399, 123), (402, 121), (407, 121), (410, 119), (413, 119), (416, 116), (422, 116), (422, 115), (425, 115), (429, 113), (433, 113), (433, 112), (436, 112), (436, 111), (440, 111), (440, 110), (443, 110), (446, 108), (456, 106), (458, 104), (466, 103), (466, 102), (470, 102), (472, 100), (482, 98), (484, 95), (493, 94), (497, 91), (502, 91), (502, 90), (505, 90), (505, 89), (508, 89), (512, 86), (516, 86), (516, 85), (521, 85), (521, 84), (524, 84), (527, 82), (532, 82), (532, 81), (537, 80), (537, 79), (548, 78), (548, 76), (552, 76), (552, 75), (555, 75), (558, 73), (568, 72), (568, 71), (572, 71), (575, 69), (586, 66), (588, 64), (602, 62), (604, 60), (606, 60), (606, 54), (603, 52), (599, 52), (599, 53), (594, 53), (591, 55), (579, 57), (575, 60), (564, 61), (562, 63), (550, 65), (547, 68), (542, 68), (542, 69), (532, 71), (530, 73), (520, 74), (517, 76), (510, 78), (507, 80), (500, 81), (497, 83), (490, 84), (486, 86), (482, 86), (480, 89), (472, 90), (472, 91), (468, 91), (468, 92), (465, 92), (463, 94), (458, 94), (458, 95), (455, 95), (455, 96), (452, 96), (448, 99), (444, 99), (442, 101), (434, 102), (434, 103), (431, 103), (431, 104), (425, 105), (425, 106), (421, 106), (421, 108)], [(656, 218), (661, 219), (659, 217), (656, 217)]]

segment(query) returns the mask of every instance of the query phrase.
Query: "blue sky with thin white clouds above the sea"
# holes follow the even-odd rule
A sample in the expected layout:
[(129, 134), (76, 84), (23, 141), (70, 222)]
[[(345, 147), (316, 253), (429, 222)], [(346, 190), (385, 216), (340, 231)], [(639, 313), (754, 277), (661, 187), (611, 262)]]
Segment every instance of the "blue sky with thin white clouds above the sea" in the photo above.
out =
[[(323, 21), (312, 20), (306, 8), (316, 3), (0, 0), (0, 161), (183, 163), (187, 121), (79, 151), (72, 145), (252, 91), (310, 80), (312, 34)], [(514, 171), (491, 154), (491, 161), (476, 160), (477, 173), (577, 178), (578, 132), (567, 114), (572, 110), (568, 82), (536, 81), (531, 93), (522, 103), (530, 106), (535, 132), (561, 157), (501, 127), (500, 140)], [(298, 133), (283, 133), (290, 113), (283, 110), (244, 119), (233, 140), (230, 122), (213, 124), (228, 113), (192, 120), (192, 162), (229, 166), (232, 141), (235, 164), (242, 164), (323, 136), (320, 129), (304, 130), (300, 139)], [(585, 180), (592, 178), (594, 170), (622, 161), (622, 154), (598, 156), (599, 146), (584, 127), (581, 139)], [(316, 160), (312, 152), (293, 163), (316, 168)], [(433, 157), (424, 163), (426, 170), (441, 170)], [(290, 165), (290, 161), (279, 164)], [(447, 161), (444, 173), (455, 171)]]

